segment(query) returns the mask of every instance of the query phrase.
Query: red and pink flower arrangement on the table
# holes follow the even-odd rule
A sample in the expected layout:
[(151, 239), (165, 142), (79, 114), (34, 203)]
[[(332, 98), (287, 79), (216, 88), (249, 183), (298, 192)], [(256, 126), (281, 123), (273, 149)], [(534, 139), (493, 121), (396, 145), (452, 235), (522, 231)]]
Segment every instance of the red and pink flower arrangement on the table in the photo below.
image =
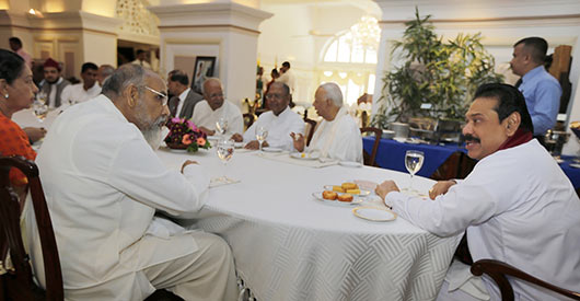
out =
[(192, 120), (174, 117), (167, 121), (166, 126), (170, 134), (165, 137), (165, 143), (171, 149), (196, 152), (200, 148), (209, 149), (211, 147), (206, 134), (199, 130)]

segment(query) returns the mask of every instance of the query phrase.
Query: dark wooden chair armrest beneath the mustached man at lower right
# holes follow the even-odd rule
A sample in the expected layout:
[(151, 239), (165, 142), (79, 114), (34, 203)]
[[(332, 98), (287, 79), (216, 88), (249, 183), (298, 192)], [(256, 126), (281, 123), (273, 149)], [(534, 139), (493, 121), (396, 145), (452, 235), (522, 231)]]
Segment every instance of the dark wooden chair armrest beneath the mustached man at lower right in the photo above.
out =
[(491, 277), (491, 279), (496, 281), (496, 285), (498, 286), (499, 291), (501, 292), (502, 301), (513, 301), (513, 289), (506, 276), (518, 278), (530, 283), (534, 283), (536, 286), (557, 292), (561, 296), (571, 298), (572, 300), (580, 300), (580, 292), (556, 287), (499, 261), (479, 259), (472, 265), (471, 270), (472, 274), (475, 276), (482, 276), (483, 274), (487, 274), (489, 277)]

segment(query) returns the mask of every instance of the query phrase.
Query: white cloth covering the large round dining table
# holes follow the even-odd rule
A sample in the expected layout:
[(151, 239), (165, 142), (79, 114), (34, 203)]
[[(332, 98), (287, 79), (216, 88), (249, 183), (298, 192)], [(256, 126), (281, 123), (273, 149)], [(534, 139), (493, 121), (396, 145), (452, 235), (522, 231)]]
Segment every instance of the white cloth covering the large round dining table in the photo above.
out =
[[(160, 150), (173, 169), (186, 160), (223, 174), (214, 149), (196, 154)], [(457, 238), (441, 239), (402, 218), (371, 222), (352, 207), (323, 204), (312, 193), (351, 180), (395, 180), (408, 174), (374, 169), (312, 169), (235, 153), (227, 175), (240, 183), (210, 189), (197, 227), (230, 244), (236, 270), (258, 300), (434, 300)], [(427, 178), (414, 187), (427, 192)], [(373, 201), (370, 201), (373, 202)]]

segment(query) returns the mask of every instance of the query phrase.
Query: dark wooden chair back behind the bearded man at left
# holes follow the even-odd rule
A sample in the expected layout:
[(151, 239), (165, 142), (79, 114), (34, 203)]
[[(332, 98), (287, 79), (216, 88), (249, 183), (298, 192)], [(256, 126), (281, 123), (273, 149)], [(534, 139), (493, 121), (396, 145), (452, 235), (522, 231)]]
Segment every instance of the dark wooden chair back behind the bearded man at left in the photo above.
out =
[(44, 300), (63, 300), (62, 273), (58, 250), (50, 222), (50, 215), (38, 177), (38, 167), (34, 162), (22, 157), (0, 157), (0, 261), (4, 262), (7, 253), (13, 268), (0, 276), (1, 300), (33, 300), (38, 298), (38, 289), (34, 285), (30, 256), (24, 250), (20, 218), (25, 199), (20, 199), (10, 184), (9, 173), (18, 169), (28, 180), (38, 235), (43, 251), (45, 283)]

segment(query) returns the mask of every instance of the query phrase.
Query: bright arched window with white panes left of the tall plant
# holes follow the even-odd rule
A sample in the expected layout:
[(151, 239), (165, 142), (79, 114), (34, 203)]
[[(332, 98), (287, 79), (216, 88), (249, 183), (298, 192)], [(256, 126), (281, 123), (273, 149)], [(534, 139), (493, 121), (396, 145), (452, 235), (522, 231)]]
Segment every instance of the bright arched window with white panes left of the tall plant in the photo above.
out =
[(356, 103), (360, 95), (374, 92), (381, 33), (376, 23), (376, 19), (363, 16), (350, 31), (330, 39), (323, 49), (317, 68), (318, 83), (338, 83), (348, 105)]

